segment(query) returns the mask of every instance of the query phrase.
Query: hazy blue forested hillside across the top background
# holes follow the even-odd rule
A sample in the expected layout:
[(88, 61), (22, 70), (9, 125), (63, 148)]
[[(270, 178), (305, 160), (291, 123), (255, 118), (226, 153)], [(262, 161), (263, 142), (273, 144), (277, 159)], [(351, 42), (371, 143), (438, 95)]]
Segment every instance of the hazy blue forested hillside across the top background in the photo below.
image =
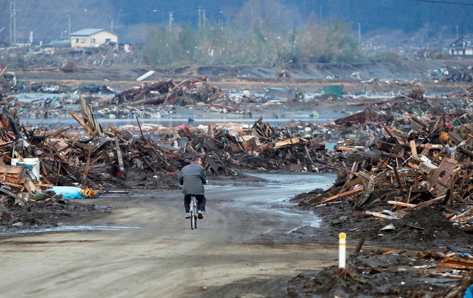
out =
[(0, 0), (0, 40), (25, 42), (32, 31), (33, 41), (49, 41), (67, 35), (70, 23), (72, 32), (99, 27), (113, 29), (121, 40), (141, 41), (149, 26), (169, 25), (172, 13), (171, 25), (192, 29), (199, 23), (244, 30), (344, 21), (354, 34), (395, 30), (425, 42), (469, 35), (471, 9), (473, 3), (466, 0)]

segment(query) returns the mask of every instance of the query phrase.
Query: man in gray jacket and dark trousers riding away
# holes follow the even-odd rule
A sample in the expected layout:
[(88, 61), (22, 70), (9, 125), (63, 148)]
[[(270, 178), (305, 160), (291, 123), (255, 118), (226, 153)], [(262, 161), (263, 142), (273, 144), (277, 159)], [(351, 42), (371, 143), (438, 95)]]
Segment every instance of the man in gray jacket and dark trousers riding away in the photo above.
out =
[(190, 198), (195, 196), (197, 200), (198, 218), (203, 219), (202, 212), (205, 211), (204, 184), (207, 184), (207, 176), (202, 166), (202, 158), (199, 155), (192, 156), (190, 164), (184, 166), (177, 175), (177, 180), (182, 185), (184, 193), (185, 218), (190, 218)]

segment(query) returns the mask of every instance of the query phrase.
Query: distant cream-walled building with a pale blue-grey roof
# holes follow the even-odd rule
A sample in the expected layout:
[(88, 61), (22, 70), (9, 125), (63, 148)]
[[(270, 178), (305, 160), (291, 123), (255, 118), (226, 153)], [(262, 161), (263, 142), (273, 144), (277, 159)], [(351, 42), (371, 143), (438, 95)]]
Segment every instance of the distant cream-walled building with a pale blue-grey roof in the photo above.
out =
[(70, 47), (87, 48), (105, 42), (118, 42), (118, 35), (105, 29), (85, 28), (70, 34)]

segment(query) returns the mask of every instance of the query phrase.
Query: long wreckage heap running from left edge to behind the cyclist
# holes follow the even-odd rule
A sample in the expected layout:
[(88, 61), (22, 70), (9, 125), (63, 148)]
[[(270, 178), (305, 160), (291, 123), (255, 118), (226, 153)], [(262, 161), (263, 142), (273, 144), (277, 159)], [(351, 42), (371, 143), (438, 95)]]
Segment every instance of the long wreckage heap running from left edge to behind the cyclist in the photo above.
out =
[(262, 118), (252, 127), (235, 127), (231, 133), (215, 123), (205, 129), (174, 127), (154, 141), (145, 137), (139, 121), (138, 135), (113, 126), (104, 130), (82, 94), (80, 105), (83, 118), (73, 111), (69, 114), (85, 134), (67, 133), (72, 125), (57, 130), (20, 125), (15, 110), (4, 106), (0, 148), (8, 179), (0, 182), (0, 192), (15, 199), (18, 192), (31, 199), (53, 186), (100, 193), (133, 180), (133, 171), (156, 173), (159, 176), (145, 180), (158, 180), (149, 183), (154, 187), (168, 187), (194, 154), (205, 156), (206, 168), (215, 175), (238, 175), (245, 168), (301, 171), (311, 168), (323, 150), (296, 131), (262, 123)]

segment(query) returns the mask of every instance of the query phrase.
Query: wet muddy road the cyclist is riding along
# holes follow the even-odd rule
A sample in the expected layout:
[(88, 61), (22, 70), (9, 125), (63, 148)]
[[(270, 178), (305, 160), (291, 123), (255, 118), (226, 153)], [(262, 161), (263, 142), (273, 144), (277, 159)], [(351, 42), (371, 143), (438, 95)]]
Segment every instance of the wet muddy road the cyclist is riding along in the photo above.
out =
[(110, 214), (77, 223), (74, 232), (0, 237), (0, 296), (285, 296), (294, 274), (336, 264), (336, 243), (287, 236), (317, 225), (312, 213), (291, 210), (288, 198), (327, 186), (334, 175), (265, 176), (274, 177), (211, 181), (205, 218), (193, 231), (180, 190), (82, 200)]

